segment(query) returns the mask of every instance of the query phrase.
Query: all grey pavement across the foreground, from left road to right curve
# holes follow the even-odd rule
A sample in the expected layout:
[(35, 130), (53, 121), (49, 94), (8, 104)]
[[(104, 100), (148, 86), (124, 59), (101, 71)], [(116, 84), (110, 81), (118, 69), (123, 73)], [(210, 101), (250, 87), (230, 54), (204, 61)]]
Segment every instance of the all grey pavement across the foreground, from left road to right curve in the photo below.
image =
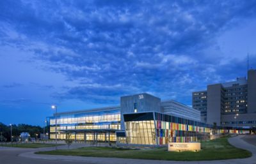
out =
[[(250, 142), (249, 142), (250, 141)], [(33, 154), (35, 151), (46, 151), (50, 149), (55, 149), (54, 147), (45, 147), (40, 149), (18, 149), (18, 148), (1, 148), (0, 147), (0, 163), (2, 164), (58, 164), (58, 163), (104, 163), (104, 164), (120, 164), (120, 163), (136, 163), (136, 164), (256, 164), (256, 136), (238, 136), (228, 139), (230, 144), (236, 147), (248, 149), (253, 153), (251, 158), (246, 159), (236, 159), (236, 160), (218, 160), (218, 161), (159, 161), (159, 160), (135, 160), (135, 159), (122, 159), (122, 158), (93, 158), (93, 157), (81, 157), (81, 156), (52, 156), (52, 155), (42, 155)], [(255, 145), (253, 145), (255, 144)], [(72, 148), (81, 147), (84, 145), (73, 144)], [(88, 146), (88, 145), (85, 145)], [(65, 146), (60, 146), (59, 149), (66, 149)]]

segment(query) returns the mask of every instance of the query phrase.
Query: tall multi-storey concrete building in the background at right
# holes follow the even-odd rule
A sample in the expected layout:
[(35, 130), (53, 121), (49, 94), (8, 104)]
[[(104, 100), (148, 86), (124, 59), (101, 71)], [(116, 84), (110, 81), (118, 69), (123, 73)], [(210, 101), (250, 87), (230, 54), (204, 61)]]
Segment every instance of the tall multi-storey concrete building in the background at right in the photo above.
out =
[(193, 108), (201, 112), (201, 121), (221, 126), (256, 125), (256, 70), (248, 70), (248, 79), (212, 84), (207, 91), (192, 93)]

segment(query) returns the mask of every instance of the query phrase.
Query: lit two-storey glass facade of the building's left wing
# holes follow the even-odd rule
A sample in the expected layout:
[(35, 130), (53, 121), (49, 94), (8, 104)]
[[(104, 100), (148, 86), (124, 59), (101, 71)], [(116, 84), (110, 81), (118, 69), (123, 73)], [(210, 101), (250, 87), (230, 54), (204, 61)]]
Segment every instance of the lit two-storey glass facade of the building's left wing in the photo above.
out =
[(121, 128), (120, 121), (120, 110), (60, 114), (49, 118), (50, 138), (55, 138), (57, 130), (57, 139), (65, 139), (66, 132), (72, 131), (74, 140), (115, 141), (115, 131)]

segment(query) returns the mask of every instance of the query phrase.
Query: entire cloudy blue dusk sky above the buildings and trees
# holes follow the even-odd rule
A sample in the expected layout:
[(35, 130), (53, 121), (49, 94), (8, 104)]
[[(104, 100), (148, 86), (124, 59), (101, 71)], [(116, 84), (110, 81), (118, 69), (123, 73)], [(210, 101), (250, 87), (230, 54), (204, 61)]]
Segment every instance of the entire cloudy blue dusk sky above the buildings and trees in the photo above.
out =
[(0, 122), (191, 92), (256, 68), (256, 1), (0, 1)]

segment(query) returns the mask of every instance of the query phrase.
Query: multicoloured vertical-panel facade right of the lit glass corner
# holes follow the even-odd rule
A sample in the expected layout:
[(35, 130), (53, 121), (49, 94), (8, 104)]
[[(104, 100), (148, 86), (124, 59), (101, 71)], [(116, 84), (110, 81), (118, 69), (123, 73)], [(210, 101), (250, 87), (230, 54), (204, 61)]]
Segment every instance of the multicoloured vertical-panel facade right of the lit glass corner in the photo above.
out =
[(168, 142), (196, 142), (206, 140), (212, 131), (208, 124), (155, 113), (156, 139), (159, 145)]

